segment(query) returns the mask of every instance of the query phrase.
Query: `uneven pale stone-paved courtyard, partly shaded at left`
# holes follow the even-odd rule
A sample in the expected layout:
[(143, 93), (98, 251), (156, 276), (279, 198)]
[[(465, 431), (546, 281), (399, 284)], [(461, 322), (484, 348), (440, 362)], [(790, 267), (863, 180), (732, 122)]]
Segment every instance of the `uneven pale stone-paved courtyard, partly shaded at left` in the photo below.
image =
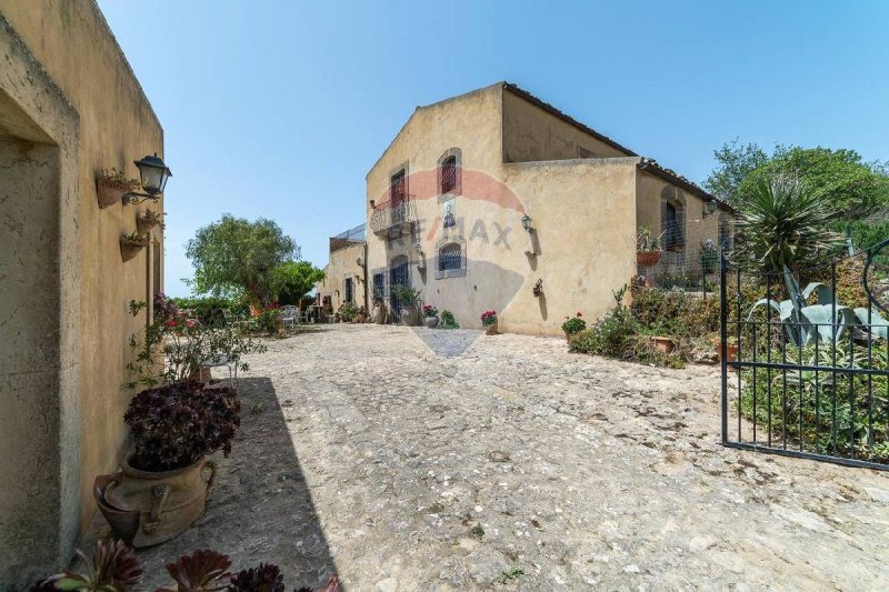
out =
[(720, 446), (713, 368), (378, 325), (250, 363), (207, 513), (140, 553), (149, 585), (210, 546), (288, 589), (889, 588), (889, 475)]

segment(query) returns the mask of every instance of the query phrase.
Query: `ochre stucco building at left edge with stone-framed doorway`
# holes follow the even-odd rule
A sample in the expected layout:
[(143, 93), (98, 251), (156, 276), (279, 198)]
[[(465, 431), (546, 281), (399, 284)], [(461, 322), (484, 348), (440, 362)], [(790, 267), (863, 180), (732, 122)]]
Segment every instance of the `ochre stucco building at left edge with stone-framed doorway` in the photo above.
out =
[(92, 0), (0, 0), (0, 589), (67, 565), (92, 482), (124, 451), (129, 339), (161, 290), (159, 203), (100, 208), (97, 177), (163, 154), (163, 131)]

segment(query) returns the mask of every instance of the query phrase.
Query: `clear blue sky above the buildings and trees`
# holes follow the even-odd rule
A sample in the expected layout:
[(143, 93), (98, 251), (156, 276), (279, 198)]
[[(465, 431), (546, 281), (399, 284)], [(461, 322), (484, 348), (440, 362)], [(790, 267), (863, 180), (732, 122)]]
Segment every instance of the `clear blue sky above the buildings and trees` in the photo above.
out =
[(413, 108), (498, 80), (698, 182), (735, 137), (889, 159), (880, 0), (99, 3), (163, 124), (173, 295), (224, 212), (323, 267)]

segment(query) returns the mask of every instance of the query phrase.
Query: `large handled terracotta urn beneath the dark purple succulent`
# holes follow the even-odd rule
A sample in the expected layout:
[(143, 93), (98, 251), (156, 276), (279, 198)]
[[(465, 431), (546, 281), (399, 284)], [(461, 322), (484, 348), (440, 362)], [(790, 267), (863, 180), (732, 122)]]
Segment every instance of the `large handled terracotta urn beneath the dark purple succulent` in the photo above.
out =
[(128, 456), (114, 474), (99, 475), (93, 495), (114, 534), (136, 548), (169, 541), (203, 514), (216, 464), (206, 458), (173, 471), (140, 471)]

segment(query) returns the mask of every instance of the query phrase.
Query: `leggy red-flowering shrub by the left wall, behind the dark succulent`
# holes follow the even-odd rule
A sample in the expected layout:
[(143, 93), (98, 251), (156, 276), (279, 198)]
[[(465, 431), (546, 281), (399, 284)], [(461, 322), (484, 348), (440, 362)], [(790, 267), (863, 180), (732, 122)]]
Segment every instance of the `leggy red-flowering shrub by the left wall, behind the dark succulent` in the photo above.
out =
[[(130, 314), (144, 314), (146, 302), (130, 301)], [(128, 389), (153, 388), (162, 383), (184, 382), (200, 372), (202, 365), (223, 361), (249, 370), (241, 361), (247, 353), (261, 353), (266, 347), (242, 335), (232, 325), (204, 325), (180, 311), (176, 303), (158, 292), (153, 300), (153, 319), (147, 322), (144, 335), (130, 338), (133, 359), (127, 364)]]

